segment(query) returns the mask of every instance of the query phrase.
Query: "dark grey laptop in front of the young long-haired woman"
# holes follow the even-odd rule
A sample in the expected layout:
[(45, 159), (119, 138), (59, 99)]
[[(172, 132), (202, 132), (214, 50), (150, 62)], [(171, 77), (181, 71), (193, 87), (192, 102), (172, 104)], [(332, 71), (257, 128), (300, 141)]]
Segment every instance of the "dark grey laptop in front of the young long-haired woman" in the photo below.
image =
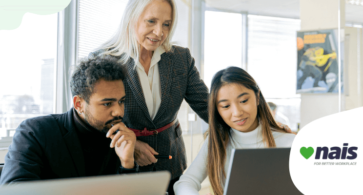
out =
[(290, 149), (233, 149), (223, 195), (303, 195), (291, 180)]

